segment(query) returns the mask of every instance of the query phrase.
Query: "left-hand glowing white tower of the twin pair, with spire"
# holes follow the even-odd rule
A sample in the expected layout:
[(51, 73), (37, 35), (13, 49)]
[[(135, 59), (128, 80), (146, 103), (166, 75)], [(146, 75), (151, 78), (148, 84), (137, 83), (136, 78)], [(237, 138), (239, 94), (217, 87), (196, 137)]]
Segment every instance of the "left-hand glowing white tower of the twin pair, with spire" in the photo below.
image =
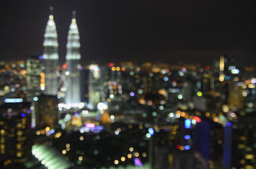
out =
[[(53, 20), (52, 10), (47, 22), (44, 34), (44, 73), (45, 73), (45, 87), (41, 86), (44, 94), (57, 95), (58, 92), (58, 76), (56, 74), (58, 66), (58, 36), (56, 32), (55, 22)], [(45, 89), (44, 89), (45, 88)]]

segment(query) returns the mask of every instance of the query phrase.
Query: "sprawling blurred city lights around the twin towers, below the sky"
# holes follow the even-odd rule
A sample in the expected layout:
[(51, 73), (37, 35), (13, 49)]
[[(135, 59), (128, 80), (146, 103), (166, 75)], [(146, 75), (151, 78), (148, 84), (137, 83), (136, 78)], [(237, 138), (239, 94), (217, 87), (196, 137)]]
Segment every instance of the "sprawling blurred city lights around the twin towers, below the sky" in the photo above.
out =
[[(65, 85), (57, 96), (36, 94), (44, 82), (40, 58), (28, 57), (26, 64), (0, 62), (4, 168), (255, 166), (255, 71), (234, 66), (233, 57), (221, 56), (214, 66), (82, 66), (83, 97), (74, 107), (65, 103), (63, 97), (72, 97), (63, 93)], [(68, 71), (68, 66), (59, 68)], [(21, 136), (26, 142), (20, 142)]]

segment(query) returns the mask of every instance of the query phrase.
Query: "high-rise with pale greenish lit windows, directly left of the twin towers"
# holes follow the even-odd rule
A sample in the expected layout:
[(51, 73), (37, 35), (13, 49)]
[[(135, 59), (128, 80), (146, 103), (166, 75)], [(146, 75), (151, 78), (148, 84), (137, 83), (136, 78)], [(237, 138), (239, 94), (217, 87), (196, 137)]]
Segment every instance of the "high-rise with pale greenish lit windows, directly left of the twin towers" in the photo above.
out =
[(28, 92), (26, 94), (26, 99), (28, 101), (32, 101), (35, 96), (40, 95), (40, 83), (41, 83), (41, 72), (42, 72), (42, 65), (40, 61), (40, 57), (38, 55), (31, 55), (26, 60), (26, 84), (28, 88)]

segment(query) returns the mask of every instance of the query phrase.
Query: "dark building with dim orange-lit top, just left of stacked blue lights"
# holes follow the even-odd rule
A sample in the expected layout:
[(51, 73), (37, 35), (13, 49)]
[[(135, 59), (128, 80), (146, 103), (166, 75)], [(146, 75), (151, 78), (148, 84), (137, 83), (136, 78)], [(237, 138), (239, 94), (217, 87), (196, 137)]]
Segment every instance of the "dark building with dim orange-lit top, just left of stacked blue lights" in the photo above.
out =
[(187, 142), (184, 142), (186, 128), (184, 128), (184, 124), (182, 123), (184, 123), (184, 121), (180, 121), (179, 124), (172, 123), (157, 126), (158, 131), (154, 134), (154, 141), (152, 141), (154, 142), (154, 152), (152, 153), (153, 168), (194, 168), (191, 145), (187, 144), (188, 141), (192, 142), (192, 138), (189, 135)]

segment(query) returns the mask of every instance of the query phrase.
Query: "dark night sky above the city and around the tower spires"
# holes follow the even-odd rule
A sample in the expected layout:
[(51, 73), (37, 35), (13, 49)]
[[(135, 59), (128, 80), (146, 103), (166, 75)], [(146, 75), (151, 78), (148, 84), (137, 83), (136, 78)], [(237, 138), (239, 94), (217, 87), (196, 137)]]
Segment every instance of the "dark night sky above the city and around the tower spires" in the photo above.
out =
[(253, 1), (26, 0), (1, 2), (1, 61), (42, 54), (54, 7), (60, 61), (65, 61), (72, 10), (77, 11), (82, 62), (211, 63), (220, 54), (256, 61)]

